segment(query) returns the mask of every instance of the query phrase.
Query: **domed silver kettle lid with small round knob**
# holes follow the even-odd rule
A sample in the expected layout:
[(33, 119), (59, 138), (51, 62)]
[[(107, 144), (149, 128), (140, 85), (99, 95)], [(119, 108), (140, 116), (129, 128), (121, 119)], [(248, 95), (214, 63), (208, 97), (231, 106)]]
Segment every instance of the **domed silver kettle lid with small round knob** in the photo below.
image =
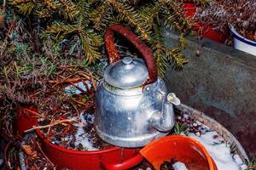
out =
[(108, 66), (104, 79), (115, 88), (136, 88), (148, 79), (143, 59), (125, 57)]

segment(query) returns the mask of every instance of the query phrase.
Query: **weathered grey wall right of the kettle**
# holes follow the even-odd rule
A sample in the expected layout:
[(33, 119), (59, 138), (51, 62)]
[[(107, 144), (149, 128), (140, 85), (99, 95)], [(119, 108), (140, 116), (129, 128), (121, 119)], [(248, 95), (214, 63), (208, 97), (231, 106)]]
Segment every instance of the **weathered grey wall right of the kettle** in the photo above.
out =
[[(177, 45), (177, 34), (165, 32), (165, 43)], [(199, 50), (200, 55), (196, 55)], [(207, 39), (188, 37), (183, 71), (166, 71), (166, 85), (184, 104), (224, 125), (256, 156), (256, 56)]]

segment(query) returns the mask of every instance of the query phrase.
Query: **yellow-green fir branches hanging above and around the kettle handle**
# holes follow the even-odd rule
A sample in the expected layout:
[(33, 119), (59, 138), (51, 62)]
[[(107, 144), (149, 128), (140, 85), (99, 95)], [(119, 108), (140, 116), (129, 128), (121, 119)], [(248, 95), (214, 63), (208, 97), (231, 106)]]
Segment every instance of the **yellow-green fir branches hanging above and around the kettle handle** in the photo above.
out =
[[(120, 23), (148, 42), (161, 76), (169, 64), (182, 68), (187, 62), (181, 50), (192, 22), (183, 16), (182, 3), (177, 1), (13, 0), (11, 4), (26, 18), (40, 20), (44, 52), (51, 56), (65, 52), (64, 55), (79, 55), (88, 64), (94, 64), (102, 56), (104, 30)], [(180, 32), (179, 47), (171, 49), (163, 44), (162, 24), (175, 26)]]

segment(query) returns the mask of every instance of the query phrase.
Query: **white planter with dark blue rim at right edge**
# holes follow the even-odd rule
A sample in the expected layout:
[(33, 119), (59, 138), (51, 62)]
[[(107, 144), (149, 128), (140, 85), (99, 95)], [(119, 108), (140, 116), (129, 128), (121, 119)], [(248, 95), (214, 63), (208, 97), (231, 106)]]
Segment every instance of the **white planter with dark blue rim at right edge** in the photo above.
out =
[(230, 26), (230, 31), (232, 32), (232, 36), (234, 37), (234, 48), (247, 52), (248, 54), (256, 55), (256, 42), (242, 37), (235, 30), (234, 26)]

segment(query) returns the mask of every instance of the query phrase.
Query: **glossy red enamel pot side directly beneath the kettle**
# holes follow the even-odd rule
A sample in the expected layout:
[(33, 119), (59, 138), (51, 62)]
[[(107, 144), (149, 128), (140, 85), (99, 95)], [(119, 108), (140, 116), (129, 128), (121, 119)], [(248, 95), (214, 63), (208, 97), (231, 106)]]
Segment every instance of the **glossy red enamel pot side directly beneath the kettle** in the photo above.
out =
[(51, 144), (40, 130), (36, 130), (43, 139), (42, 148), (57, 167), (68, 167), (74, 170), (96, 169), (128, 169), (136, 166), (143, 157), (138, 154), (138, 149), (125, 149), (113, 147), (107, 150), (78, 151), (67, 150), (56, 144)]

